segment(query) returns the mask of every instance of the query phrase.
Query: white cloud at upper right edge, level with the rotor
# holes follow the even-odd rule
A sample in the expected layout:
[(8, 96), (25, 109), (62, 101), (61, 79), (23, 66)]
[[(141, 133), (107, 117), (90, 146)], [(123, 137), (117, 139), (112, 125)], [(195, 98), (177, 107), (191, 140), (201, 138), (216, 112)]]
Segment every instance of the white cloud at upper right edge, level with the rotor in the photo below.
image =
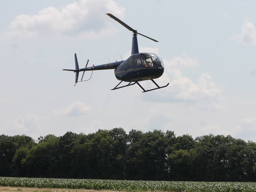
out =
[(230, 39), (246, 45), (256, 45), (256, 28), (253, 23), (246, 18), (242, 25), (241, 33), (231, 36)]

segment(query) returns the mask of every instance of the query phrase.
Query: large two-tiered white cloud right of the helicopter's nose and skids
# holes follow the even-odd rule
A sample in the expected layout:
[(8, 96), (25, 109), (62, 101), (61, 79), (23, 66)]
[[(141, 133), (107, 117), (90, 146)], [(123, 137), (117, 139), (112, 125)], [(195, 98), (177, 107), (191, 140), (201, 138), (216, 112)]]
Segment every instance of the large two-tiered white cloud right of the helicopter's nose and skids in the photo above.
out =
[(171, 60), (164, 59), (164, 74), (157, 81), (160, 85), (168, 82), (170, 82), (170, 85), (162, 90), (158, 98), (162, 97), (164, 100), (218, 102), (222, 96), (221, 87), (213, 82), (209, 74), (202, 74), (196, 82), (182, 76), (180, 68), (192, 68), (198, 65), (196, 58), (189, 58), (185, 53)]

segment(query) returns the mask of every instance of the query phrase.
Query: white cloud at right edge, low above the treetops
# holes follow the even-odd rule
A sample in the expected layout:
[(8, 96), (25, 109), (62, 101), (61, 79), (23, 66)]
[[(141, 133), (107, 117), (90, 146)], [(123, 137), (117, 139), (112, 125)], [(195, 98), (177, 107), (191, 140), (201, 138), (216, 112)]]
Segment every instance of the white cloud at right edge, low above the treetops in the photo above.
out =
[(235, 134), (237, 138), (256, 140), (256, 117), (242, 119), (239, 126), (236, 126)]

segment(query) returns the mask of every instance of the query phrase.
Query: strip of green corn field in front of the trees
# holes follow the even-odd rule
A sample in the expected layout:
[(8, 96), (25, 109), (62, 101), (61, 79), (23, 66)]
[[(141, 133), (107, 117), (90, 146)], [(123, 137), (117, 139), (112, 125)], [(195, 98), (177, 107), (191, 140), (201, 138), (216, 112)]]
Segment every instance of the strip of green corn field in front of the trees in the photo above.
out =
[(132, 181), (0, 177), (0, 186), (119, 191), (255, 192), (254, 182)]

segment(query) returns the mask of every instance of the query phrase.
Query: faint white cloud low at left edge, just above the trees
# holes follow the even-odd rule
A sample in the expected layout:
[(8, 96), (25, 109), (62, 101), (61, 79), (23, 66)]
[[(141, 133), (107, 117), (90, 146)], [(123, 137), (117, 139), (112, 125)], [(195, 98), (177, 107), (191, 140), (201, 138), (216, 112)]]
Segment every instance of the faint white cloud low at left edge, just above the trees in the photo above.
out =
[(27, 114), (14, 119), (12, 122), (1, 124), (4, 134), (30, 134), (40, 130), (39, 119), (34, 114)]

